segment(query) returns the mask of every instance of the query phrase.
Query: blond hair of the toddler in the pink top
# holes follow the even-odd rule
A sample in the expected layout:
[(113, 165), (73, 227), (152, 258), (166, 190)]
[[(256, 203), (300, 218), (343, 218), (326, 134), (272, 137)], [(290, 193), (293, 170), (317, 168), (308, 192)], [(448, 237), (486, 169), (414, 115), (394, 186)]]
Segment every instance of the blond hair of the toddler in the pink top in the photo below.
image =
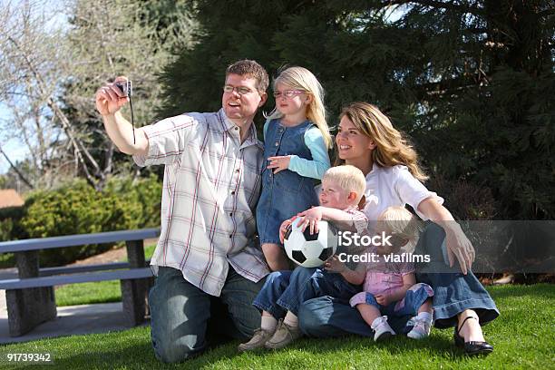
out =
[(378, 222), (381, 223), (380, 229), (385, 229), (387, 233), (408, 239), (408, 243), (401, 248), (402, 251), (407, 253), (414, 251), (422, 227), (420, 220), (408, 209), (401, 206), (388, 207), (378, 217)]

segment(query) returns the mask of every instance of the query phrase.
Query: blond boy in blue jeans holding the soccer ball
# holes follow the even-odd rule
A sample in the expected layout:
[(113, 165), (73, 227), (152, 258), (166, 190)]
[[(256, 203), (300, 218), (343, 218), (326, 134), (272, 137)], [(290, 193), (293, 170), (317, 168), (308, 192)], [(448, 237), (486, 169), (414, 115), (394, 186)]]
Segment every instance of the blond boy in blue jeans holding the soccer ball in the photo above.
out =
[[(341, 229), (362, 232), (367, 219), (357, 206), (365, 186), (364, 174), (354, 166), (337, 166), (326, 170), (319, 193), (320, 206), (284, 221), (280, 227), (281, 241), (287, 226), (296, 218), (301, 219), (300, 224), (304, 228), (314, 232), (317, 232), (320, 219), (334, 221)], [(322, 284), (326, 285), (327, 290), (332, 289), (336, 297), (345, 296), (347, 301), (358, 291), (341, 274), (327, 273), (322, 268), (299, 266), (294, 271), (276, 271), (268, 275), (264, 287), (253, 302), (253, 306), (262, 311), (260, 328), (247, 343), (239, 345), (239, 351), (262, 346), (282, 348), (301, 336), (297, 320), (298, 306), (311, 297), (317, 297)]]

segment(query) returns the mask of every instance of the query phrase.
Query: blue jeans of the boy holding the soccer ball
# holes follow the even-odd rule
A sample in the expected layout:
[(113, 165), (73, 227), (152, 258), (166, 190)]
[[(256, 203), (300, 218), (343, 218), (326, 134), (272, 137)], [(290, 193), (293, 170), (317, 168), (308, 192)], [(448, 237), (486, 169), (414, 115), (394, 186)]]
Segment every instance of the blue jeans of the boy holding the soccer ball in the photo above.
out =
[(287, 311), (297, 315), (298, 307), (308, 299), (333, 295), (341, 302), (348, 303), (349, 298), (358, 291), (358, 287), (349, 284), (340, 274), (299, 266), (293, 271), (269, 274), (252, 305), (281, 318)]

